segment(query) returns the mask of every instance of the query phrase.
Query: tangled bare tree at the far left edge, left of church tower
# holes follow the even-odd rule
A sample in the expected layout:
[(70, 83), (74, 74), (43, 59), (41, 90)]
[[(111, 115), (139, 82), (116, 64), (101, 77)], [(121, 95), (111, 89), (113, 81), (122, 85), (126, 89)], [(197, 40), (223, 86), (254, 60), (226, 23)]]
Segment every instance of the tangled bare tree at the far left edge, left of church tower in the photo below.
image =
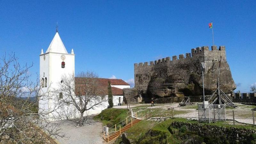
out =
[(32, 66), (21, 66), (14, 53), (0, 59), (0, 143), (49, 143), (41, 130), (52, 138), (65, 136), (58, 124), (44, 118), (57, 108), (38, 108), (39, 100), (49, 96), (40, 92), (38, 79), (31, 81)]

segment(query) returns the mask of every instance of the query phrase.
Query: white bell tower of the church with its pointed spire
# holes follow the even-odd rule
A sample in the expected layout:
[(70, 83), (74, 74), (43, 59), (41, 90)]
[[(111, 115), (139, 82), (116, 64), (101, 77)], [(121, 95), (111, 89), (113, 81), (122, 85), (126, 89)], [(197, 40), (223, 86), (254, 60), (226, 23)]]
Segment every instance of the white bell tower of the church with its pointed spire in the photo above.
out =
[(47, 111), (51, 109), (54, 103), (53, 89), (58, 89), (61, 82), (61, 76), (70, 76), (75, 74), (75, 54), (72, 49), (68, 53), (58, 31), (52, 39), (47, 51), (43, 49), (40, 54), (40, 92), (48, 93), (50, 99), (39, 101), (39, 110)]

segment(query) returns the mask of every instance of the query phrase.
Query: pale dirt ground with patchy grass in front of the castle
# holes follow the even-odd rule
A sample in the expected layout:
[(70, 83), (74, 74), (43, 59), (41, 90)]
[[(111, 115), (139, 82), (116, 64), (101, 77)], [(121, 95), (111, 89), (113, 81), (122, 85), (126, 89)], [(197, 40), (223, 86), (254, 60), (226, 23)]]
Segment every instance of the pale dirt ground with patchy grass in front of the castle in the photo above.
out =
[[(226, 107), (226, 118), (229, 120), (233, 119), (233, 110), (235, 115), (235, 120), (239, 123), (253, 124), (252, 119), (252, 110), (251, 108), (256, 108), (256, 106), (251, 105), (243, 105), (239, 103), (235, 103), (238, 107)], [(198, 119), (198, 109), (197, 103), (194, 105), (187, 105), (180, 107), (179, 103), (171, 103), (171, 104), (155, 104), (155, 107), (151, 107), (151, 104), (136, 104), (130, 105), (134, 114), (138, 113), (138, 117), (141, 117), (140, 114), (143, 114), (143, 118), (149, 116), (149, 109), (151, 113), (151, 117), (186, 117)], [(114, 108), (127, 108), (127, 106), (116, 106)], [(256, 112), (255, 112), (256, 113)], [(254, 114), (256, 115), (256, 114)]]

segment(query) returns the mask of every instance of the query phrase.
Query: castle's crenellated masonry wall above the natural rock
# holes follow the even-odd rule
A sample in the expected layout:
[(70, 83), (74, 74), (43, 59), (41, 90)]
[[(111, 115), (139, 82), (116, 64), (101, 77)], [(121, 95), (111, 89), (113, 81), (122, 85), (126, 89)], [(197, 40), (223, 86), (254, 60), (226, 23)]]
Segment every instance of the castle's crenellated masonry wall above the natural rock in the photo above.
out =
[(180, 54), (179, 59), (177, 56), (166, 57), (163, 59), (140, 62), (134, 64), (134, 81), (135, 88), (146, 90), (151, 76), (155, 73), (158, 77), (166, 78), (168, 75), (180, 75), (186, 83), (189, 82), (188, 72), (202, 73), (201, 62), (205, 63), (205, 71), (209, 70), (212, 66), (212, 61), (218, 62), (220, 60), (226, 62), (225, 46), (212, 46), (212, 51), (209, 51), (208, 46), (197, 47), (191, 49), (191, 53)]

